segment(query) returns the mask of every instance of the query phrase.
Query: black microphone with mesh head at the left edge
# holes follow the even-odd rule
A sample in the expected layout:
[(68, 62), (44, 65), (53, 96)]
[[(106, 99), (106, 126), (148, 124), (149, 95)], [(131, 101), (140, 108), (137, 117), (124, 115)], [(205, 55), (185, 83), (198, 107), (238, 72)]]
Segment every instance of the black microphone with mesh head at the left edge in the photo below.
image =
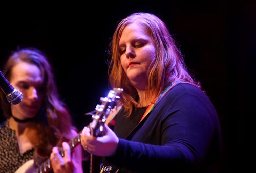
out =
[(6, 95), (7, 101), (12, 105), (18, 104), (20, 101), (22, 101), (22, 93), (19, 90), (13, 88), (1, 70), (0, 75), (0, 86)]

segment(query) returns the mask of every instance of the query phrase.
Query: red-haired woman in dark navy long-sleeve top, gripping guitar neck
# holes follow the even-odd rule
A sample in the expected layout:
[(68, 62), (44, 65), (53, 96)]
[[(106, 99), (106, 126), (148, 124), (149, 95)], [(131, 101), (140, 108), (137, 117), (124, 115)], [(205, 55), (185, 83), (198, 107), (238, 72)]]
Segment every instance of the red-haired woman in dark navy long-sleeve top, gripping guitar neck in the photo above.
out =
[(218, 115), (164, 22), (150, 13), (121, 20), (110, 63), (112, 88), (123, 88), (114, 131), (81, 134), (84, 150), (105, 157), (102, 171), (218, 172)]

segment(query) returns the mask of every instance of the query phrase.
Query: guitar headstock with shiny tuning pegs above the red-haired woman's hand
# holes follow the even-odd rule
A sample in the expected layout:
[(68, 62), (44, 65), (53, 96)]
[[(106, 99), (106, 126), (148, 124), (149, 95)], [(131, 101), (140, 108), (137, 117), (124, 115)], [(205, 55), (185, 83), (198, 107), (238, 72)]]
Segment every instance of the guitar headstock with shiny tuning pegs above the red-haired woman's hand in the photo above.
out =
[(102, 135), (106, 118), (109, 116), (111, 110), (115, 108), (116, 101), (119, 100), (122, 91), (122, 88), (113, 88), (106, 97), (100, 98), (101, 104), (96, 106), (96, 113), (92, 114), (91, 134), (93, 136)]

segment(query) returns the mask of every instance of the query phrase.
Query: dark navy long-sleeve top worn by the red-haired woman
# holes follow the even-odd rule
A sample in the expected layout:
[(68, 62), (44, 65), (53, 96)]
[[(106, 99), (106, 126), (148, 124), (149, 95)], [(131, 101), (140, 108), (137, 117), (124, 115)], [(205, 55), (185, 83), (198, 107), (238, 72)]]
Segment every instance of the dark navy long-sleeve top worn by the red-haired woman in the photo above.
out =
[(139, 123), (145, 110), (138, 108), (129, 118), (118, 113), (114, 131), (119, 143), (115, 156), (106, 157), (108, 164), (118, 172), (217, 171), (220, 124), (203, 91), (180, 83)]

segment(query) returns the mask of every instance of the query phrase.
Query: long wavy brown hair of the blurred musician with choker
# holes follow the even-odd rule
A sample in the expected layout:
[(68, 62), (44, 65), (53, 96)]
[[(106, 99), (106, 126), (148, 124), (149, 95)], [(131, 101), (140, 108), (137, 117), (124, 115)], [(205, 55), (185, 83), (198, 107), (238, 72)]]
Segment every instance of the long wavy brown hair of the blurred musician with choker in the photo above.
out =
[[(8, 57), (3, 73), (7, 80), (10, 80), (12, 68), (20, 63), (26, 62), (36, 65), (44, 79), (44, 98), (41, 109), (36, 115), (36, 131), (35, 137), (35, 156), (46, 155), (49, 157), (53, 146), (61, 146), (63, 141), (72, 138), (71, 129), (75, 129), (72, 125), (72, 119), (65, 103), (63, 103), (58, 95), (57, 87), (54, 81), (52, 67), (48, 62), (47, 56), (40, 50), (35, 48), (25, 48), (15, 51)], [(7, 102), (6, 96), (1, 92), (0, 101), (5, 118), (11, 116), (11, 106)], [(39, 157), (38, 156), (38, 157)]]

